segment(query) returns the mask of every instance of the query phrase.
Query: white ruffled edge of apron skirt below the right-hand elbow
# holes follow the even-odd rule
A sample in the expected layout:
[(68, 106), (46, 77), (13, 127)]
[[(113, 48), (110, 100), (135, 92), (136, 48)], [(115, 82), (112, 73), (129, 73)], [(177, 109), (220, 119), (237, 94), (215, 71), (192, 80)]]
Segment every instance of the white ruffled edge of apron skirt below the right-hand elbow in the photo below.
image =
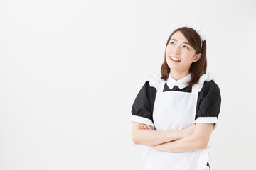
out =
[(210, 153), (210, 147), (207, 146), (206, 149), (201, 149), (198, 170), (209, 170), (210, 168), (207, 166), (207, 162), (211, 159), (212, 154)]

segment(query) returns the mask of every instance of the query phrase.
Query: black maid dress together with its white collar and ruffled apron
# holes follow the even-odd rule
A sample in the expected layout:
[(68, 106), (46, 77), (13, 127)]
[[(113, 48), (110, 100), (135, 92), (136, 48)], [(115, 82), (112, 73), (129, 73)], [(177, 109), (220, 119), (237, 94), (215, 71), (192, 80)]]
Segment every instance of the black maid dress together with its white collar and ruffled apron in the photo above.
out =
[[(188, 74), (176, 81), (169, 75), (164, 81), (159, 75), (150, 74), (132, 105), (132, 122), (154, 126), (156, 130), (181, 130), (191, 123), (214, 123), (220, 112), (220, 89), (207, 72), (197, 84), (187, 87)], [(210, 147), (189, 152), (161, 152), (149, 147), (144, 152), (144, 169), (210, 169)]]

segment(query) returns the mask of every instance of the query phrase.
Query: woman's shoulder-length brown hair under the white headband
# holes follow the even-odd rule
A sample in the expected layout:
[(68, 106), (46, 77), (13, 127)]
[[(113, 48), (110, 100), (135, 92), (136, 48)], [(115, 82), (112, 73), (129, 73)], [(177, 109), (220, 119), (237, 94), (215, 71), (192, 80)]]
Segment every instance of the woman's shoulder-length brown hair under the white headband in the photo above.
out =
[[(181, 33), (184, 35), (184, 37), (188, 40), (188, 42), (191, 44), (194, 50), (196, 50), (196, 54), (201, 53), (201, 58), (197, 62), (193, 62), (191, 64), (191, 67), (189, 69), (189, 72), (191, 73), (191, 81), (188, 81), (188, 87), (193, 86), (193, 84), (196, 84), (199, 80), (199, 78), (206, 73), (207, 69), (207, 61), (206, 61), (206, 40), (204, 40), (202, 43), (201, 48), (201, 39), (200, 35), (196, 32), (196, 30), (193, 30), (192, 28), (183, 27), (178, 28), (174, 30), (173, 33), (169, 36), (166, 47), (169, 44), (169, 41), (171, 40), (172, 35), (176, 33), (177, 31), (181, 31)], [(168, 79), (170, 74), (170, 68), (166, 62), (166, 50), (164, 52), (164, 63), (161, 65), (161, 79)]]

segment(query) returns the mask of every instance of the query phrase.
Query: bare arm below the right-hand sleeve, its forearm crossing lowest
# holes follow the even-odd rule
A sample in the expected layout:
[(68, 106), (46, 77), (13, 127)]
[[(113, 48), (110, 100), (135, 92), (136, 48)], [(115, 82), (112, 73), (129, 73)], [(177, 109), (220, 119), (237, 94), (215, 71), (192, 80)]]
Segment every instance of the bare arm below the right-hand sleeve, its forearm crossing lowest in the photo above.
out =
[(152, 149), (164, 152), (188, 152), (194, 149), (204, 149), (208, 145), (213, 124), (196, 125), (196, 132), (182, 139), (153, 146)]

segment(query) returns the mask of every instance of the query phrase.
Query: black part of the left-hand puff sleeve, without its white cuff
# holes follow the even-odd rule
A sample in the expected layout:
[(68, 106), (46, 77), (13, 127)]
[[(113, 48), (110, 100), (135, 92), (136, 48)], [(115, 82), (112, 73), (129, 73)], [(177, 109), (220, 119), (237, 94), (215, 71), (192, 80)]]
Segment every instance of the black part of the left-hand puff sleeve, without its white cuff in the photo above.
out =
[(150, 119), (153, 123), (153, 109), (156, 98), (156, 88), (149, 85), (149, 81), (140, 89), (132, 105), (132, 115)]

